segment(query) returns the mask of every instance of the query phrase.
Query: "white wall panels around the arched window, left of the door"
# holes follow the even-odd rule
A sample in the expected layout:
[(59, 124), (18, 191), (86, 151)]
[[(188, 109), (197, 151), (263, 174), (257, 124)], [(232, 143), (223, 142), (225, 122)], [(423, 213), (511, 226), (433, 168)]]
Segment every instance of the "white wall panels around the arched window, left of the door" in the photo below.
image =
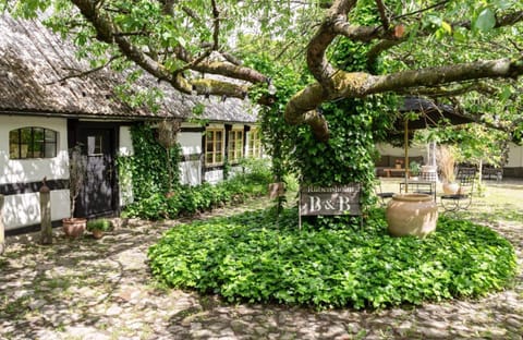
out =
[[(26, 184), (69, 179), (66, 120), (23, 116), (0, 116), (0, 184)], [(58, 132), (57, 157), (34, 159), (9, 158), (9, 132), (20, 127), (38, 126)], [(69, 191), (51, 192), (51, 219), (69, 217)], [(7, 195), (2, 214), (5, 230), (40, 222), (39, 194)]]

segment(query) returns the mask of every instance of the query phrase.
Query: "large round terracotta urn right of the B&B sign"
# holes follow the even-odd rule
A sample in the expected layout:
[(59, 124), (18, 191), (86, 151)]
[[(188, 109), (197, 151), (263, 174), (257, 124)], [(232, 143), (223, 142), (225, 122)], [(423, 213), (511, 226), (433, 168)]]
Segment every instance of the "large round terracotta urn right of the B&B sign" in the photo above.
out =
[(386, 218), (391, 235), (424, 238), (436, 230), (438, 206), (431, 195), (394, 194), (387, 205)]

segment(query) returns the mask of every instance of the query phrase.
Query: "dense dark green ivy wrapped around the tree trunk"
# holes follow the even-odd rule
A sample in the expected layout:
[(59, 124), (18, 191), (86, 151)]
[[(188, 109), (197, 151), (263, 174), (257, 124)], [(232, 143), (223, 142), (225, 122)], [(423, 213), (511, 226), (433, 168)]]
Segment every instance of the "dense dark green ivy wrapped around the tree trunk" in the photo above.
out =
[[(340, 39), (331, 59), (344, 71), (372, 70), (379, 73), (380, 65), (367, 64), (365, 47)], [(268, 59), (269, 60), (269, 59)], [(333, 100), (320, 110), (327, 118), (330, 139), (318, 143), (308, 126), (291, 126), (284, 122), (283, 111), (290, 97), (311, 75), (290, 69), (273, 70), (268, 60), (250, 60), (264, 74), (272, 74), (278, 92), (272, 106), (262, 112), (264, 147), (272, 158), (276, 181), (292, 172), (303, 184), (319, 186), (363, 184), (363, 205), (373, 203), (375, 159), (379, 156), (376, 143), (382, 141), (394, 119), (390, 108), (396, 106), (392, 95)], [(264, 93), (265, 90), (265, 93)], [(262, 88), (260, 94), (267, 95)]]

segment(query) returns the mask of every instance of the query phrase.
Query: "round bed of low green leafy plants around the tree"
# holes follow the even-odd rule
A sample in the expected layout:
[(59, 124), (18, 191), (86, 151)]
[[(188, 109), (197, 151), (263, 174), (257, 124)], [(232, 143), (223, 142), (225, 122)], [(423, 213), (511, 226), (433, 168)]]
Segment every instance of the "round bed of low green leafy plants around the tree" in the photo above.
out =
[(175, 288), (230, 302), (384, 307), (481, 296), (516, 271), (512, 245), (489, 228), (440, 217), (435, 233), (387, 234), (382, 210), (363, 230), (318, 218), (297, 230), (296, 209), (250, 211), (177, 226), (149, 248), (153, 274)]

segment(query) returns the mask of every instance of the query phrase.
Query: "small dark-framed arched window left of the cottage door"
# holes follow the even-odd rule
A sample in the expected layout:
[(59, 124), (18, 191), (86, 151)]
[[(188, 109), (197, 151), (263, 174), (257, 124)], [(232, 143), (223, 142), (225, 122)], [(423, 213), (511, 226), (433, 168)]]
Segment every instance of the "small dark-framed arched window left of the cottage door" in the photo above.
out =
[(36, 126), (21, 127), (9, 132), (9, 158), (57, 157), (58, 132)]

